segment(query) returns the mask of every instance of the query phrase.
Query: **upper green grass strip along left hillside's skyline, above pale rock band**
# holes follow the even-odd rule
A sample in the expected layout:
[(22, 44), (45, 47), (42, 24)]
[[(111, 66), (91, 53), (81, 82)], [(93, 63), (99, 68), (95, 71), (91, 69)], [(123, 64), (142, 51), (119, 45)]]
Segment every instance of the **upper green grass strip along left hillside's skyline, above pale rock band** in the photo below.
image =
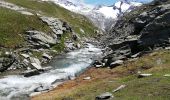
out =
[[(31, 9), (33, 13), (40, 12), (46, 16), (52, 16), (68, 22), (73, 30), (79, 33), (80, 36), (95, 36), (94, 30), (97, 29), (84, 16), (70, 12), (52, 2), (38, 2), (36, 0), (6, 0), (18, 6)], [(85, 34), (80, 32), (80, 28), (85, 31)]]

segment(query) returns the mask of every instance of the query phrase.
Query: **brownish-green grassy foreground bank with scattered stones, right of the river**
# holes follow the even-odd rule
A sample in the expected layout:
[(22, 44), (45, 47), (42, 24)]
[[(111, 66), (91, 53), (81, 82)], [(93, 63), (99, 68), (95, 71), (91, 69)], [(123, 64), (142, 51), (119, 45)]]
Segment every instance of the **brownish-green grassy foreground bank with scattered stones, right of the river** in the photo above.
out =
[(32, 100), (168, 100), (169, 54), (169, 50), (154, 51), (113, 69), (92, 67)]

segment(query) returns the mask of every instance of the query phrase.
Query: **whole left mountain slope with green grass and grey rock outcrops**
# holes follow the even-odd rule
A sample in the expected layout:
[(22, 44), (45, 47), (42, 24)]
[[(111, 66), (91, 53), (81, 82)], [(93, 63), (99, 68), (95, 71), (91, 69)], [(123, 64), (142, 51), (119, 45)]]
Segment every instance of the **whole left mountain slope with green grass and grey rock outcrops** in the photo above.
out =
[(0, 72), (42, 69), (56, 54), (81, 48), (98, 30), (85, 16), (38, 0), (0, 1), (0, 24)]

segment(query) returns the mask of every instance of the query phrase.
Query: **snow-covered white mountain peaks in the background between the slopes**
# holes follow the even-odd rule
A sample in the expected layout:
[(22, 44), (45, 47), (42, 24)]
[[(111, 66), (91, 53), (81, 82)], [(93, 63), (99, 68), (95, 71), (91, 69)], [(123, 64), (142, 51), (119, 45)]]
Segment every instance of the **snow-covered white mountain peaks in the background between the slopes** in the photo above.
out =
[[(135, 9), (136, 6), (142, 5), (138, 2), (128, 2), (122, 0), (116, 2), (112, 6), (98, 5), (92, 6), (84, 4), (81, 0), (43, 0), (52, 1), (70, 11), (87, 16), (92, 22), (102, 30), (108, 29), (108, 23), (113, 22), (124, 12), (129, 12)], [(110, 25), (109, 23), (109, 25)]]

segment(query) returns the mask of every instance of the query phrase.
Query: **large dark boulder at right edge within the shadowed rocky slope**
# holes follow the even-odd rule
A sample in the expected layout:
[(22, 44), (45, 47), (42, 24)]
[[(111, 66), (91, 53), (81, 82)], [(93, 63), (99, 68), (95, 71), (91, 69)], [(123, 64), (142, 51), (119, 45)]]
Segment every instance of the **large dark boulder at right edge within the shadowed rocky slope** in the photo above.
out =
[[(170, 5), (169, 5), (170, 6)], [(155, 18), (142, 31), (140, 43), (144, 46), (170, 44), (170, 12)]]

